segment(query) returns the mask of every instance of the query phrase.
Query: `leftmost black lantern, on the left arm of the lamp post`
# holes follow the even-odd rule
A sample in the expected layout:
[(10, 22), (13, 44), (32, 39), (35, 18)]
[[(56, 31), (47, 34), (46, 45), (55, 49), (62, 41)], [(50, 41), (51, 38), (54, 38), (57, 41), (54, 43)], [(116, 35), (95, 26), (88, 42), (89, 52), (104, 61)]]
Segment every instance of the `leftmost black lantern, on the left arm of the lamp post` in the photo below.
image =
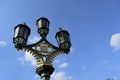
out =
[(26, 24), (19, 24), (14, 28), (13, 43), (15, 45), (25, 45), (28, 36), (30, 35), (30, 28)]

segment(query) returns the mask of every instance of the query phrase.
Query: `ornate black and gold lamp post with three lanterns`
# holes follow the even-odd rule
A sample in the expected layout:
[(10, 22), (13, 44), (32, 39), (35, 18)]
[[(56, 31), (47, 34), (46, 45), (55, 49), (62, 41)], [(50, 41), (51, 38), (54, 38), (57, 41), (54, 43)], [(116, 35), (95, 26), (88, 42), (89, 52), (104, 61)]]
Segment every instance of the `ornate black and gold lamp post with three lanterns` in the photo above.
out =
[(41, 39), (30, 45), (27, 45), (30, 28), (25, 23), (19, 24), (14, 28), (13, 43), (15, 48), (28, 51), (35, 57), (37, 61), (36, 73), (41, 76), (42, 80), (49, 80), (50, 75), (53, 73), (53, 59), (61, 53), (68, 54), (71, 47), (70, 34), (61, 28), (55, 36), (59, 47), (54, 46), (46, 39), (49, 33), (49, 24), (50, 22), (47, 18), (41, 17), (37, 20), (36, 25)]

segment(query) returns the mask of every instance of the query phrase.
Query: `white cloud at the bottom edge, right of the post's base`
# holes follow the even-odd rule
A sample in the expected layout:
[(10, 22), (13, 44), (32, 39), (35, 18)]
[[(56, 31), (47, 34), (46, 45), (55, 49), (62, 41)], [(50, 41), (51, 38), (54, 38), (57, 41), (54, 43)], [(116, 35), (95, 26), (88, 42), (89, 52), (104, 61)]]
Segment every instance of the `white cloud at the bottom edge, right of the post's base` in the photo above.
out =
[(54, 72), (51, 76), (52, 80), (72, 80), (71, 76), (67, 76), (65, 72)]

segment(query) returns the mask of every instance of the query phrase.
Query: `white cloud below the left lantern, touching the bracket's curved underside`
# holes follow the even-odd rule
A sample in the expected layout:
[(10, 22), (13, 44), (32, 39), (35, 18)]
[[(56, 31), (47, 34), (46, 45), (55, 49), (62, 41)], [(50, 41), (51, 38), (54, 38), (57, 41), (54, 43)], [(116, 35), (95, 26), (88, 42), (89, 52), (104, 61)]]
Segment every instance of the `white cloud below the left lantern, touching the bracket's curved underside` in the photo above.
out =
[(37, 64), (35, 58), (29, 52), (26, 52), (24, 57), (19, 58), (19, 60), (21, 61), (22, 64), (24, 64), (25, 61), (30, 62), (32, 66), (36, 66)]

